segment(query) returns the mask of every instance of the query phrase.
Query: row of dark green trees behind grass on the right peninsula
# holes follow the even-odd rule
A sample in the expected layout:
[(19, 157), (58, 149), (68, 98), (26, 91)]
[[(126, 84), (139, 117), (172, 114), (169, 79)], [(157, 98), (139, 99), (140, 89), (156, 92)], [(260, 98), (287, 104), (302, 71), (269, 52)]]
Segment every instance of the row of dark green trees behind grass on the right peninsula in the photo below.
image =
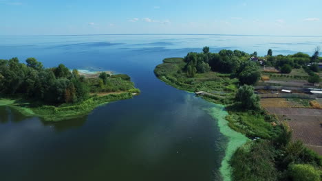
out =
[(255, 84), (261, 71), (259, 64), (248, 61), (249, 58), (250, 54), (244, 51), (223, 49), (219, 53), (210, 53), (209, 47), (204, 47), (202, 53), (191, 52), (184, 57), (184, 70), (188, 77), (194, 77), (195, 73), (217, 71), (232, 74), (241, 84)]

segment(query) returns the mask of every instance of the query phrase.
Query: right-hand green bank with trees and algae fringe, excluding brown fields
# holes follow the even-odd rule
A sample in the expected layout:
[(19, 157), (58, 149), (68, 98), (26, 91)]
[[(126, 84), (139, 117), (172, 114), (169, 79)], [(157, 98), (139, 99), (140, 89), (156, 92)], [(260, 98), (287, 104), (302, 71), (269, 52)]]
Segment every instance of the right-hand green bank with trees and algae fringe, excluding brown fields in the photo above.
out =
[(253, 56), (238, 50), (210, 53), (204, 47), (203, 53), (164, 59), (154, 73), (163, 82), (214, 103), (209, 112), (228, 137), (220, 168), (223, 180), (294, 180), (294, 165), (310, 165), (316, 176), (321, 173), (321, 157), (303, 143), (291, 142), (288, 126), (259, 106), (252, 85), (261, 70), (259, 62), (250, 60)]

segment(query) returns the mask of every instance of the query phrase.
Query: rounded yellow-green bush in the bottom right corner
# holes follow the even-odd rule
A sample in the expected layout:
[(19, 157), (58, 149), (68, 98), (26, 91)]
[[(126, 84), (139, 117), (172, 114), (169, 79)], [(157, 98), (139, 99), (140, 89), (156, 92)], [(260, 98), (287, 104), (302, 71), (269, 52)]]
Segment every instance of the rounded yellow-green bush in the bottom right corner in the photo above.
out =
[(294, 181), (321, 180), (321, 171), (315, 169), (312, 165), (290, 165), (288, 171)]

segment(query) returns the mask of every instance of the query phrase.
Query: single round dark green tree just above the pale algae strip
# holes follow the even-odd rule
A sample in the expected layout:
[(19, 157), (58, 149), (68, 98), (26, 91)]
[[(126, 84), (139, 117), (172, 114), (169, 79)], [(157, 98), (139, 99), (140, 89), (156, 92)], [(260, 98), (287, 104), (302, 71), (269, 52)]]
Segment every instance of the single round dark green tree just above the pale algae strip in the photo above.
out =
[(236, 101), (239, 102), (241, 108), (258, 110), (259, 109), (259, 97), (255, 95), (253, 86), (241, 86), (238, 88)]

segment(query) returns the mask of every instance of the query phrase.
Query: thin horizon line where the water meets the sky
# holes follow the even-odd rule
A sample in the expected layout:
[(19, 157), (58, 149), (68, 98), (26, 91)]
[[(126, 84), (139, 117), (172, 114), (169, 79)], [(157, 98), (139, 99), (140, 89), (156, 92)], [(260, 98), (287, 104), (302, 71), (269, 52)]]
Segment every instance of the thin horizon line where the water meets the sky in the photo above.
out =
[(47, 34), (47, 35), (0, 35), (0, 36), (102, 36), (102, 35), (201, 35), (201, 36), (289, 36), (322, 37), (322, 35), (260, 35), (260, 34)]

